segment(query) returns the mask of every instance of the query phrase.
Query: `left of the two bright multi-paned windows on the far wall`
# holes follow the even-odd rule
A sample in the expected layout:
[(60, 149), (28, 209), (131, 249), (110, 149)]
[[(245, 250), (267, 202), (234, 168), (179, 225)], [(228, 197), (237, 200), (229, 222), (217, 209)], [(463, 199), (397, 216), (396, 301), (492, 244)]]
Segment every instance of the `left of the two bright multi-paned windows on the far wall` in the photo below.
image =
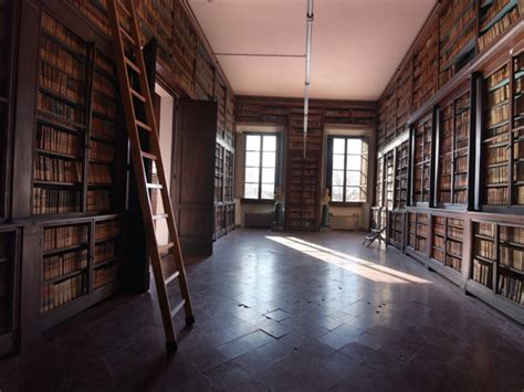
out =
[(273, 199), (276, 183), (279, 136), (247, 134), (245, 199)]

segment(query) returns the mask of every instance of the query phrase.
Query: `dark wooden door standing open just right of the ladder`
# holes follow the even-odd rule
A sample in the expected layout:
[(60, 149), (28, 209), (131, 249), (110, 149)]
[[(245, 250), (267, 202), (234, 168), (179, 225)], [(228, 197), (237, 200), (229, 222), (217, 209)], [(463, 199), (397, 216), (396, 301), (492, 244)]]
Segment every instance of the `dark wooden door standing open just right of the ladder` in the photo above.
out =
[(182, 252), (212, 253), (217, 103), (180, 99), (176, 113), (171, 200)]

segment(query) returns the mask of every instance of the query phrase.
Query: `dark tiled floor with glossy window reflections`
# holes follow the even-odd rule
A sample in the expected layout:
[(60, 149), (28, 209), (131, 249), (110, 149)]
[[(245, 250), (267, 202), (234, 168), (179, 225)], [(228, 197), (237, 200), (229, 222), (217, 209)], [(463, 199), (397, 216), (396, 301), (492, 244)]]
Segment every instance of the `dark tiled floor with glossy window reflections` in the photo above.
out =
[(7, 391), (518, 391), (524, 329), (361, 234), (235, 231), (188, 265), (167, 358), (150, 295), (107, 300), (0, 362)]

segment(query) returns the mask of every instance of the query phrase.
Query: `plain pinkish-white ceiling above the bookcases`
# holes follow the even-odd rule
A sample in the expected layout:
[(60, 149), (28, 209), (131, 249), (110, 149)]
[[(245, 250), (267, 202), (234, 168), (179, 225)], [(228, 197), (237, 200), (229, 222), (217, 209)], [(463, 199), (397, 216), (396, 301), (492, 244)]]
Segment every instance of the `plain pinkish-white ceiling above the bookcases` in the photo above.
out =
[[(306, 0), (188, 2), (237, 95), (303, 96)], [(377, 99), (434, 3), (316, 0), (312, 97)]]

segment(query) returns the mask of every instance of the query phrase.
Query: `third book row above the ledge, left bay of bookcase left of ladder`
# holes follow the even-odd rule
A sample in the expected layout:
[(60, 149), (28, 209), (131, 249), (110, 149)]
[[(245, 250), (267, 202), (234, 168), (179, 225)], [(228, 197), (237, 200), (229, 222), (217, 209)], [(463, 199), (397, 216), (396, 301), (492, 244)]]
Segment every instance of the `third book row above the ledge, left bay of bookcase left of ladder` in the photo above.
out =
[(39, 124), (36, 149), (81, 157), (83, 142), (76, 135), (61, 131), (50, 125)]

